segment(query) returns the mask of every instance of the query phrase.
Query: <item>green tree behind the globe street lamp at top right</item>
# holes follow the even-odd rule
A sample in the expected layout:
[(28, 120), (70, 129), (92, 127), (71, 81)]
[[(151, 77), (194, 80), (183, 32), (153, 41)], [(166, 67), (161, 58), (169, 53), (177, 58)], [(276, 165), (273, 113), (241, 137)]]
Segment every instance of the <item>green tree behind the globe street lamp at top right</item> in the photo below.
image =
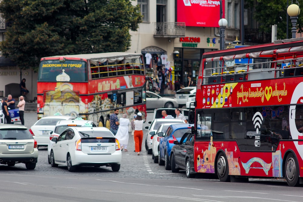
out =
[[(277, 39), (287, 38), (287, 18), (288, 18), (288, 38), (291, 38), (291, 20), (287, 15), (287, 0), (246, 0), (246, 6), (254, 10), (254, 18), (258, 22), (259, 33), (271, 35), (271, 25), (277, 25)], [(295, 3), (295, 2), (293, 2)], [(288, 0), (288, 5), (291, 0)], [(301, 33), (303, 15), (298, 15), (297, 29)], [(266, 41), (270, 42), (270, 41)]]

